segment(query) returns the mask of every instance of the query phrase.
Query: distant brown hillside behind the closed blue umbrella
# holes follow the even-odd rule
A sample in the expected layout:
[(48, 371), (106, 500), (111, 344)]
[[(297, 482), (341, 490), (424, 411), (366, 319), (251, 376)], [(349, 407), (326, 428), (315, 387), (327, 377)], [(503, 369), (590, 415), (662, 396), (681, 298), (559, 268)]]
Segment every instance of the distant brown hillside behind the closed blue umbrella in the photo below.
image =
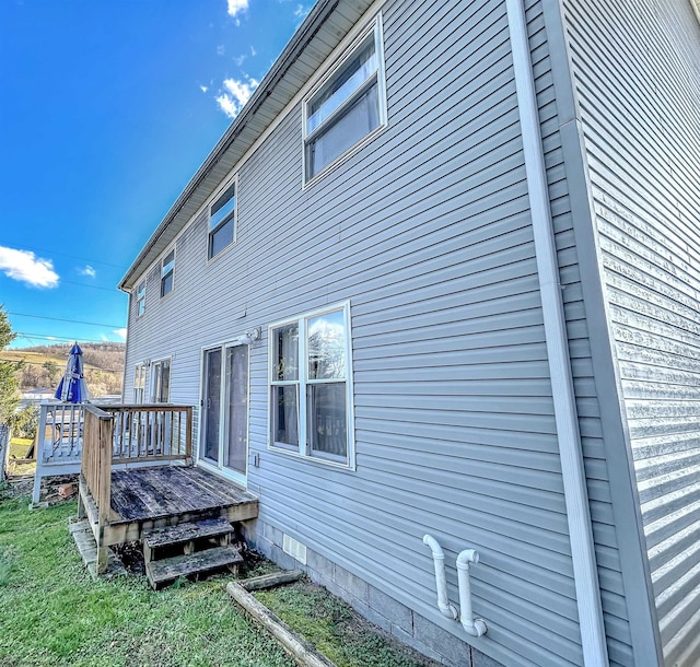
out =
[[(18, 362), (20, 388), (30, 391), (39, 387), (56, 387), (63, 373), (73, 343), (35, 346), (2, 350), (0, 358)], [(122, 342), (80, 343), (88, 389), (92, 397), (121, 394), (124, 381), (124, 358), (126, 344)], [(22, 362), (22, 363), (20, 363)]]

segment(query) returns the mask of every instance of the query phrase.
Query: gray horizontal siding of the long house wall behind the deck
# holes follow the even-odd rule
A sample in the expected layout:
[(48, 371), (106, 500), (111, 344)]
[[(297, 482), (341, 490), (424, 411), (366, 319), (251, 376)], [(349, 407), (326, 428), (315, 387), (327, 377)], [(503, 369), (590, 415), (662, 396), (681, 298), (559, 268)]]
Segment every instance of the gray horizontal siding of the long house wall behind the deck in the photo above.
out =
[[(608, 653), (632, 665), (552, 74), (561, 54), (544, 4), (528, 2), (527, 19)], [(171, 358), (171, 401), (199, 405), (202, 349), (261, 326), (248, 471), (260, 548), (289, 561), (284, 535), (298, 540), (317, 580), (370, 618), (392, 600), (388, 629), (429, 654), (442, 648), (447, 664), (581, 665), (505, 7), (388, 1), (382, 12), (387, 129), (304, 189), (301, 105), (280, 118), (237, 171), (236, 244), (207, 260), (205, 210), (174, 242), (174, 290), (160, 297), (158, 262), (144, 273), (125, 396), (137, 363)], [(268, 325), (346, 300), (357, 470), (267, 446)], [(486, 636), (468, 639), (439, 613), (425, 533), (445, 548), (455, 602), (456, 553), (479, 551), (474, 607)]]

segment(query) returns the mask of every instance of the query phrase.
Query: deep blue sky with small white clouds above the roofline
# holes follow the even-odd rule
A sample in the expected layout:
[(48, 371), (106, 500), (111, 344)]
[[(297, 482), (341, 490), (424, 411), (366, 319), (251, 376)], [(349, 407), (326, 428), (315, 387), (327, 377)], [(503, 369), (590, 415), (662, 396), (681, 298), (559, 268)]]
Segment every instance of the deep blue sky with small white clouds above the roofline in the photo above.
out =
[(0, 1), (12, 347), (124, 340), (117, 283), (311, 5)]

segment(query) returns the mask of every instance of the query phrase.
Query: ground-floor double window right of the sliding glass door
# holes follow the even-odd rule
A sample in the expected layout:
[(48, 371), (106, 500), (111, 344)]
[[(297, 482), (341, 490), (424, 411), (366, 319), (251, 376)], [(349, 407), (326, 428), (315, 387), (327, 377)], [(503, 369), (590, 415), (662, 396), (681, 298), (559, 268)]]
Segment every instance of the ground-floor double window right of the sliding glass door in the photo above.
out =
[(270, 444), (353, 465), (349, 304), (270, 327)]

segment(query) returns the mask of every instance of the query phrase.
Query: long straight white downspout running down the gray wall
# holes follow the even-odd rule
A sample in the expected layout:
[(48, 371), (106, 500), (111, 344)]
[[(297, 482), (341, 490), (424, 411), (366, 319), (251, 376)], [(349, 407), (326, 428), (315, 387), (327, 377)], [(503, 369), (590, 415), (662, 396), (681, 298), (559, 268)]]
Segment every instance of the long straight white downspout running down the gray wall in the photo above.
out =
[(527, 191), (535, 238), (535, 255), (542, 302), (545, 338), (551, 377), (559, 458), (567, 503), (571, 560), (573, 565), (579, 628), (586, 667), (608, 665), (593, 528), (581, 435), (576, 412), (571, 360), (567, 337), (555, 232), (549, 208), (547, 172), (542, 154), (537, 97), (527, 37), (523, 0), (505, 0), (513, 51), (515, 90), (523, 137)]

